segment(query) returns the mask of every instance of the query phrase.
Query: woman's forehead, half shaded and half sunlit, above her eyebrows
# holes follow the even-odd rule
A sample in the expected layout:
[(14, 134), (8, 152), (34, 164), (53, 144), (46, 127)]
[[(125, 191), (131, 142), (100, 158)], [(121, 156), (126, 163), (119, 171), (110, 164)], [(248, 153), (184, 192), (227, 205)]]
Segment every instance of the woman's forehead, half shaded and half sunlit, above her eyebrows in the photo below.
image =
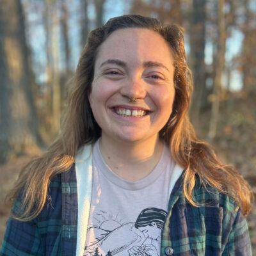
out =
[[(108, 59), (157, 61), (172, 65), (172, 52), (159, 33), (144, 28), (118, 29), (100, 45), (96, 67)], [(98, 65), (97, 65), (98, 64)]]

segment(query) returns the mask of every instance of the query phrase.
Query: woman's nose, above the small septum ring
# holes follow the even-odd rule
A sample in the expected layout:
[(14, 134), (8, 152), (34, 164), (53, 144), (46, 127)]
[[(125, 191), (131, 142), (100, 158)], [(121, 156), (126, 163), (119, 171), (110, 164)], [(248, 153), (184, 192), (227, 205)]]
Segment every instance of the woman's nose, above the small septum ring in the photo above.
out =
[(130, 77), (123, 84), (120, 93), (129, 99), (144, 99), (147, 95), (145, 81), (141, 76)]

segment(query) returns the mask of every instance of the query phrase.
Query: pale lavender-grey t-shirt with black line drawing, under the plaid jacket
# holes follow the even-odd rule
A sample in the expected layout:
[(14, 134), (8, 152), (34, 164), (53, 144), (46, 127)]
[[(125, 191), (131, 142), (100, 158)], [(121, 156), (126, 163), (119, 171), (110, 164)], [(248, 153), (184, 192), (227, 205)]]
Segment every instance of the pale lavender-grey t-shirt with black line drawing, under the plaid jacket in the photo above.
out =
[(93, 146), (93, 183), (84, 255), (160, 255), (175, 163), (169, 148), (144, 179), (127, 181), (113, 173)]

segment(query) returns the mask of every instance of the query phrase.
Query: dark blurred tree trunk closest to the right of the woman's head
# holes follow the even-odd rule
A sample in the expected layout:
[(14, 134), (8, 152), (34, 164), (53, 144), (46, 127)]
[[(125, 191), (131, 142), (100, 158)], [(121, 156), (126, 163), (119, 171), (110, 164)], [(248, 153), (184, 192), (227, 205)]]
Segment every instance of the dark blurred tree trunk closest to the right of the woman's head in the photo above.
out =
[(190, 26), (190, 59), (194, 77), (194, 92), (191, 102), (191, 122), (196, 126), (199, 123), (202, 96), (205, 95), (205, 1), (193, 1)]

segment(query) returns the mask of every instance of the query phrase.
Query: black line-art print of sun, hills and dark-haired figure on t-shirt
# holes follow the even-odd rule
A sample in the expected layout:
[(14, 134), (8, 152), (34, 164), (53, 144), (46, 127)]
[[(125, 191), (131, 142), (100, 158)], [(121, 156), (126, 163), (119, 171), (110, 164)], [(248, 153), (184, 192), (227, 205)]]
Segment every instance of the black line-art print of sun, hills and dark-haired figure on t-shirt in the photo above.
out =
[(161, 231), (167, 212), (150, 207), (140, 212), (135, 222), (122, 223), (118, 215), (100, 211), (93, 214), (99, 223), (89, 227), (84, 248), (86, 256), (159, 256)]

